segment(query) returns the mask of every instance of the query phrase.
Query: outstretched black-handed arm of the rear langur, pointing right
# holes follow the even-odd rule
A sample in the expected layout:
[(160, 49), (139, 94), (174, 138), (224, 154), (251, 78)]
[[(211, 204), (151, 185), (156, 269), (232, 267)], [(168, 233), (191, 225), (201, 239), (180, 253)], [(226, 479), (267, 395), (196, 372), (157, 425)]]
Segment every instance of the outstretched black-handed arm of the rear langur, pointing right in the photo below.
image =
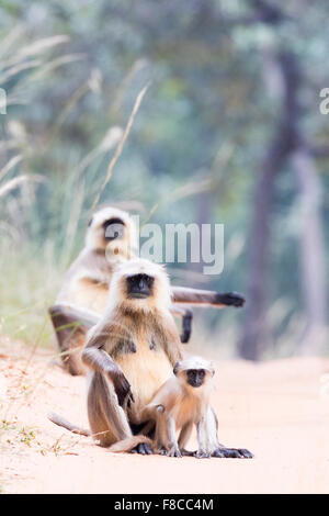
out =
[(240, 307), (245, 304), (245, 298), (237, 292), (219, 293), (212, 290), (197, 290), (188, 287), (171, 287), (173, 303), (192, 304), (195, 306), (223, 306)]

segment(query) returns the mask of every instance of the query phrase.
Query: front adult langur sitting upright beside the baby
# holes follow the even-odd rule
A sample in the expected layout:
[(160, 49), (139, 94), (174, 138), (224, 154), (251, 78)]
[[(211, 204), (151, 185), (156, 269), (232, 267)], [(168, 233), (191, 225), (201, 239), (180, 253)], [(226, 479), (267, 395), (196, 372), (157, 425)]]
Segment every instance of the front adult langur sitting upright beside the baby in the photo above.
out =
[[(132, 259), (116, 267), (109, 302), (89, 332), (82, 351), (88, 374), (88, 417), (102, 446), (133, 437), (145, 406), (182, 358), (170, 313), (170, 283), (163, 267)], [(138, 451), (150, 453), (147, 444)]]

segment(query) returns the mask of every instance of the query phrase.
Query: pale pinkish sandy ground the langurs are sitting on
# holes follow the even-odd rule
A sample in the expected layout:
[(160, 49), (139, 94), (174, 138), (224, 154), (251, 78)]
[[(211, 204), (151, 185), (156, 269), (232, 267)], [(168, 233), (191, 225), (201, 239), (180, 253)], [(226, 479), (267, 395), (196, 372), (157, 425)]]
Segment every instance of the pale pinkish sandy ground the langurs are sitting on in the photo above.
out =
[(4, 493), (329, 493), (329, 360), (217, 362), (219, 440), (256, 457), (197, 460), (114, 455), (56, 427), (49, 411), (87, 426), (84, 379), (30, 354), (0, 346)]

